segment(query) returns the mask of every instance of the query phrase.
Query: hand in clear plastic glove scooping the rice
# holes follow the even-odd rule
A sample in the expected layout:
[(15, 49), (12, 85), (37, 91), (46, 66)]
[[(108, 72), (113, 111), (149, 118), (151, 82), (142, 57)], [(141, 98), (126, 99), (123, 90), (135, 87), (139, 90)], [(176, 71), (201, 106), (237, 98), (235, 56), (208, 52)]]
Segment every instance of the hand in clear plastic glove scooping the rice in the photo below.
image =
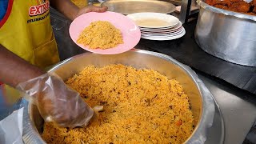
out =
[(58, 126), (74, 128), (87, 126), (94, 116), (94, 110), (76, 91), (67, 87), (57, 74), (43, 74), (19, 83), (16, 88), (28, 94), (25, 94), (25, 98), (38, 106), (46, 122), (55, 122)]

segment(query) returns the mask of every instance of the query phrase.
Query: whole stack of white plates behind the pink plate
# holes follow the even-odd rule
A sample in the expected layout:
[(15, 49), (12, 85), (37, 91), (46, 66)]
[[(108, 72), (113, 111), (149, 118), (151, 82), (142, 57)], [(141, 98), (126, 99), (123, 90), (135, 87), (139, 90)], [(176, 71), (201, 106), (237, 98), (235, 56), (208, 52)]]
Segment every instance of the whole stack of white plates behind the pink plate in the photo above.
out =
[(161, 13), (135, 13), (127, 15), (136, 22), (142, 38), (150, 40), (172, 40), (181, 38), (186, 31), (178, 18)]

